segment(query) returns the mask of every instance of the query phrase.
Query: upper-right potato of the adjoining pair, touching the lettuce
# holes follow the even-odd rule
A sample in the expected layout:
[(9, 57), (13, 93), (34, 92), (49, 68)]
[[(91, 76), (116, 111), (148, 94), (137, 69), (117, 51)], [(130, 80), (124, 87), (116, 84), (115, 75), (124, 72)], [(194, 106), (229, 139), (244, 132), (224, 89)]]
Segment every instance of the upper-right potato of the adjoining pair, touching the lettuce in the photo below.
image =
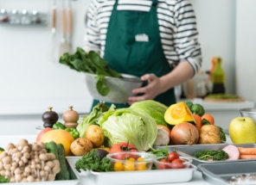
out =
[(104, 142), (104, 133), (100, 126), (90, 125), (86, 128), (86, 139), (93, 143), (93, 147), (99, 147)]

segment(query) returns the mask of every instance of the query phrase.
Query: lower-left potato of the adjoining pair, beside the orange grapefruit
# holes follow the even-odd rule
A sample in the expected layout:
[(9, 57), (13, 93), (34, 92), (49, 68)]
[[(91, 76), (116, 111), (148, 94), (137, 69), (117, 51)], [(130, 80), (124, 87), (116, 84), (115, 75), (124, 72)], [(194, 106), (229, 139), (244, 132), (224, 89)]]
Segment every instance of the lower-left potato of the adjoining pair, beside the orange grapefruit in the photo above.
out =
[(70, 150), (74, 156), (82, 156), (93, 149), (93, 143), (86, 138), (75, 139), (71, 145)]

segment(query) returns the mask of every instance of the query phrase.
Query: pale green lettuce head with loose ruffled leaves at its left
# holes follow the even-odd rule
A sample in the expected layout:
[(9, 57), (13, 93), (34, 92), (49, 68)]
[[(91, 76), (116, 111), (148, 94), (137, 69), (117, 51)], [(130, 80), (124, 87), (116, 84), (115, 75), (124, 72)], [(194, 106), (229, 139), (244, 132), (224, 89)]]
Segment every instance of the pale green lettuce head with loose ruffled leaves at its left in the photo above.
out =
[[(157, 106), (157, 103), (155, 105)], [(105, 103), (97, 104), (79, 124), (80, 137), (85, 137), (87, 126), (98, 125), (104, 131), (105, 146), (112, 147), (118, 142), (129, 142), (138, 151), (148, 151), (157, 139), (157, 122), (147, 114), (147, 103), (140, 104), (139, 107), (116, 108), (112, 104), (108, 108)]]

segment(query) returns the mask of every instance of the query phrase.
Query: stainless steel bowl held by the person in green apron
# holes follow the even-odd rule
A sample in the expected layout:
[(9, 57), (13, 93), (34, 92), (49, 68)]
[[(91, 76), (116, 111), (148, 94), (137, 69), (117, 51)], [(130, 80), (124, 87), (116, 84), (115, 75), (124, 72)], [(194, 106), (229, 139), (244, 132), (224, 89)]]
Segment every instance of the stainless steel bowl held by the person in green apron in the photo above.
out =
[(132, 89), (142, 86), (143, 81), (139, 77), (122, 74), (122, 77), (105, 77), (106, 85), (110, 88), (107, 96), (101, 96), (96, 88), (96, 75), (86, 73), (86, 85), (89, 93), (95, 100), (102, 102), (125, 103), (129, 96), (133, 96)]

